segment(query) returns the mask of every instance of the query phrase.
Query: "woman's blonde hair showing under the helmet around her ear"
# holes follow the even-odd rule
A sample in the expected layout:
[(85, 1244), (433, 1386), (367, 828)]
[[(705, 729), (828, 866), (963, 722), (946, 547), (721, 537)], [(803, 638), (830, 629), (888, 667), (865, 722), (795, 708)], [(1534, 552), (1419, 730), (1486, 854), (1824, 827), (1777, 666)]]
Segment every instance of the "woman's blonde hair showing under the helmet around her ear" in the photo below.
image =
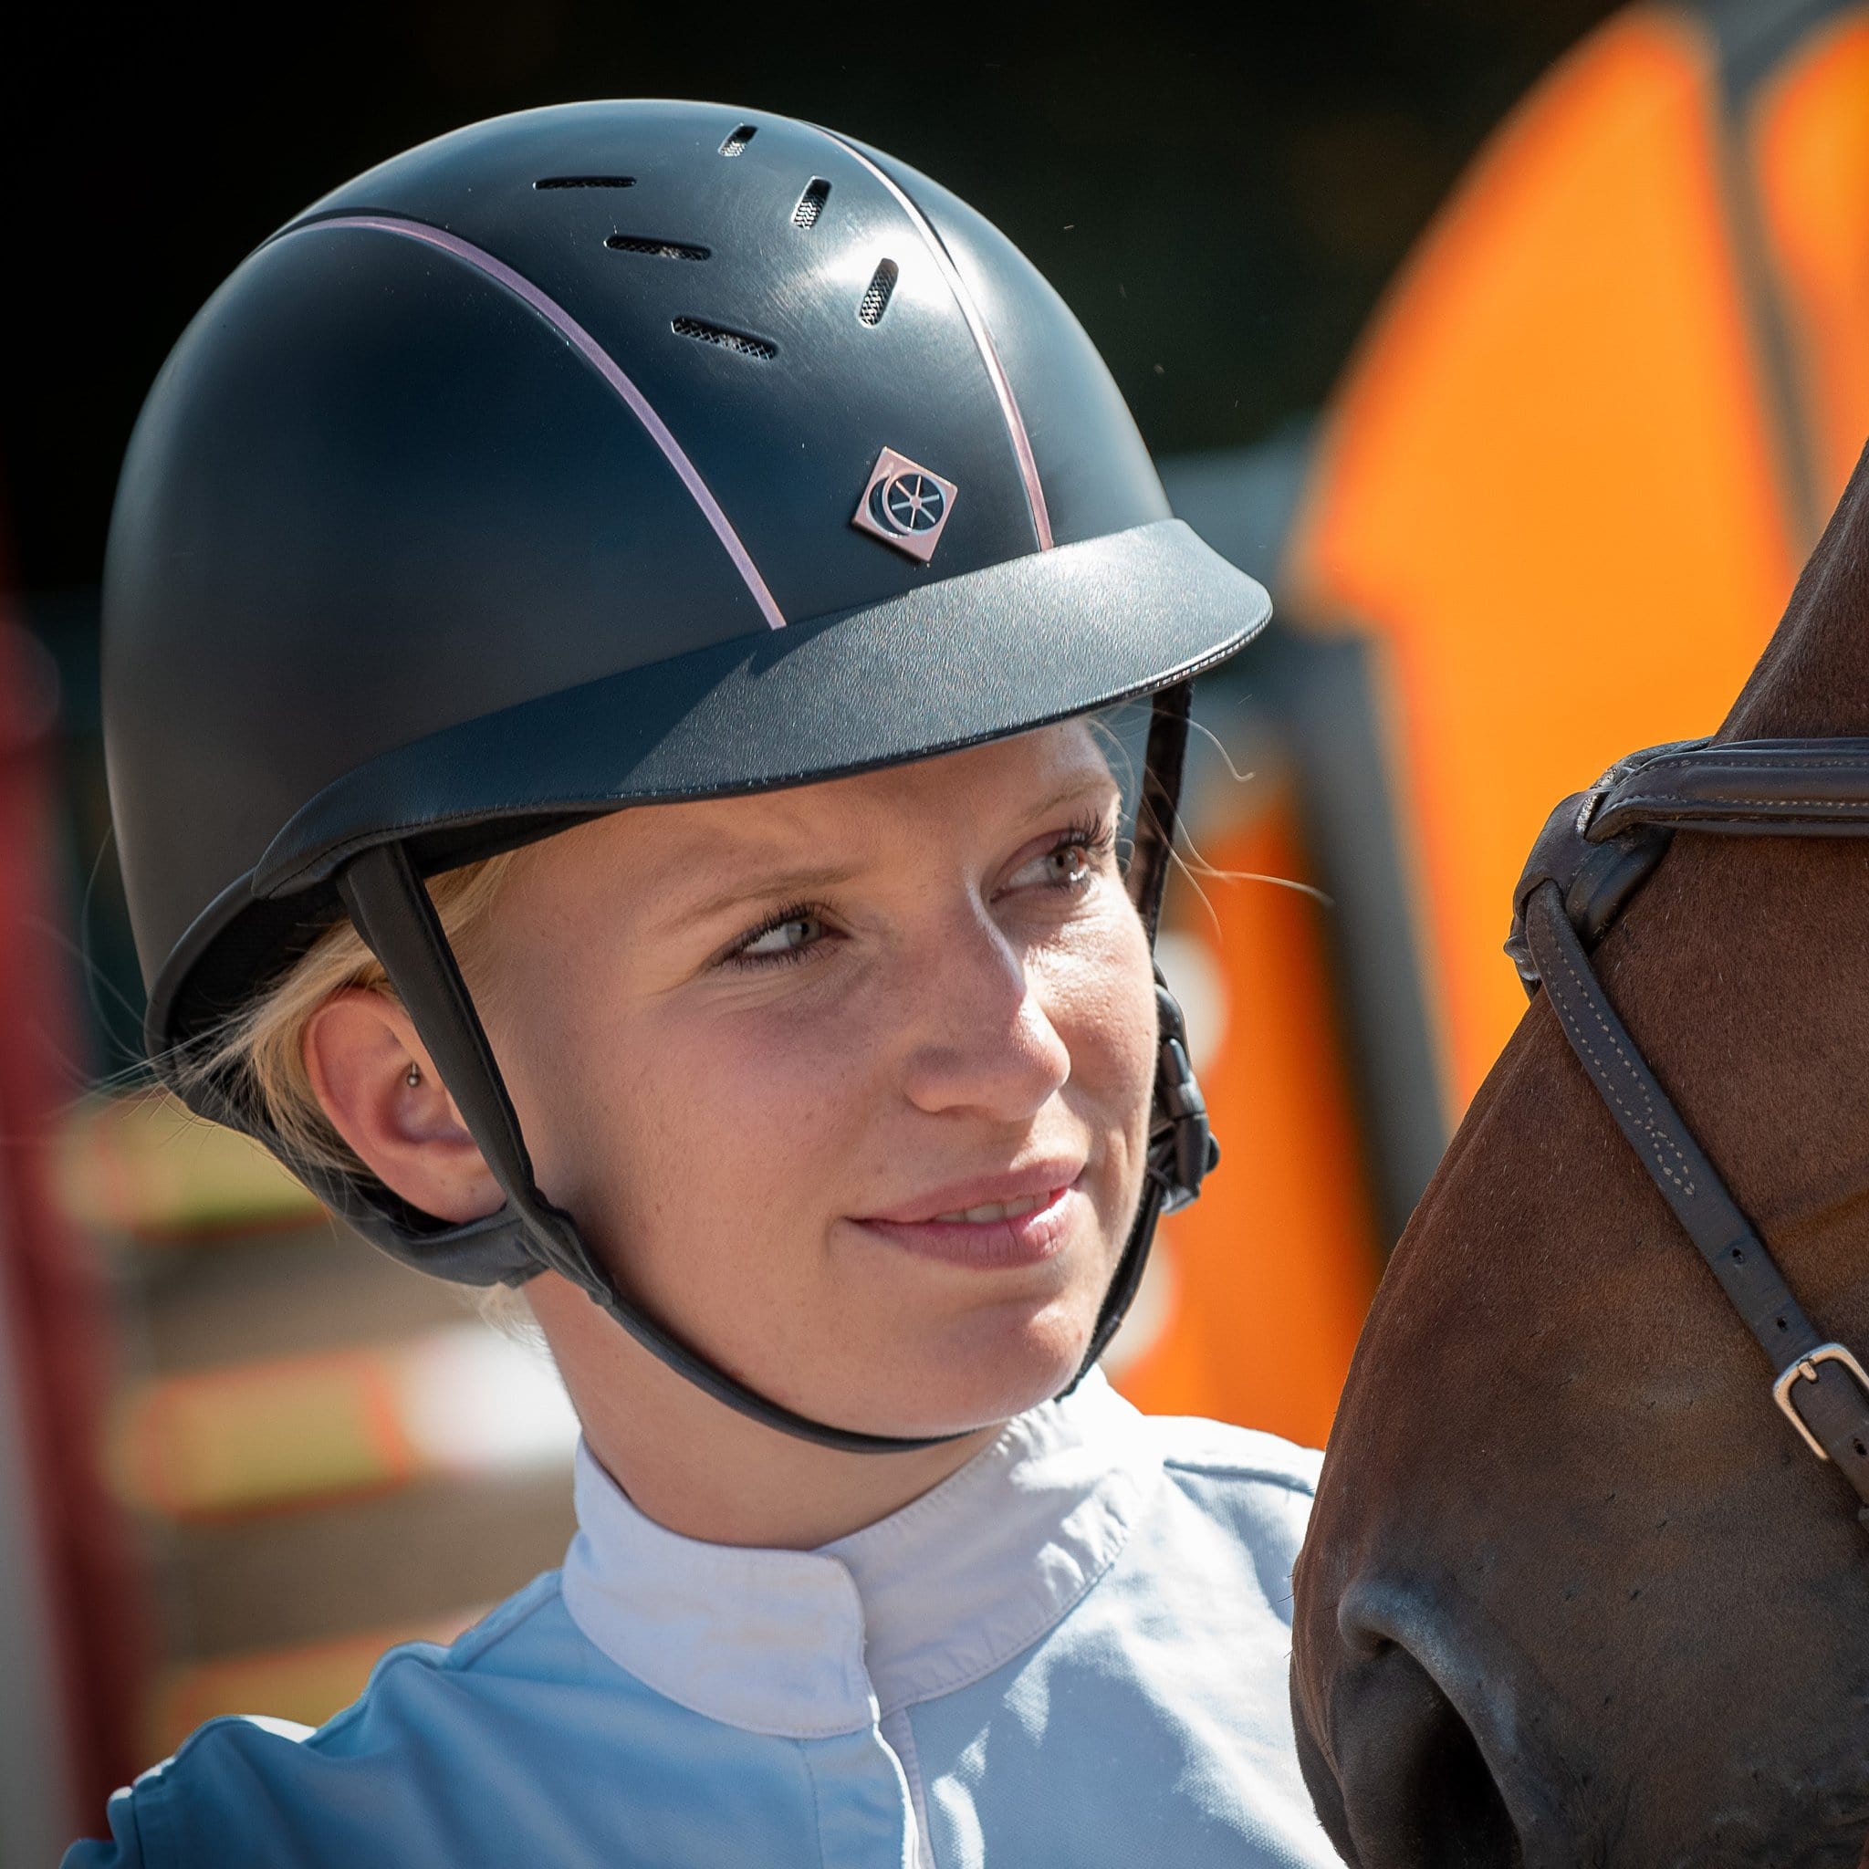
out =
[[(428, 884), (449, 946), (465, 968), (486, 933), (488, 918), (512, 871), (518, 850), (464, 863)], [(183, 1090), (196, 1084), (235, 1086), (273, 1138), (288, 1166), (376, 1177), (338, 1134), (305, 1069), (305, 1034), (335, 992), (363, 987), (402, 1004), (383, 964), (348, 920), (333, 923), (260, 996), (219, 1024), (178, 1062)]]

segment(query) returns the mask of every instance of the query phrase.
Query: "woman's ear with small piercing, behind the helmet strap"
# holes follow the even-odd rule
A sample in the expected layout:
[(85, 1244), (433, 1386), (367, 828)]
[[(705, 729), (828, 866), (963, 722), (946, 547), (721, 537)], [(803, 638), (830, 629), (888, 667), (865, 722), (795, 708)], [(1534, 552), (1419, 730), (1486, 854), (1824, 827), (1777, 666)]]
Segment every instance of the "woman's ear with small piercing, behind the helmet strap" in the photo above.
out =
[(422, 1213), (478, 1220), (505, 1200), (394, 1000), (368, 987), (333, 992), (307, 1022), (305, 1071), (363, 1164)]

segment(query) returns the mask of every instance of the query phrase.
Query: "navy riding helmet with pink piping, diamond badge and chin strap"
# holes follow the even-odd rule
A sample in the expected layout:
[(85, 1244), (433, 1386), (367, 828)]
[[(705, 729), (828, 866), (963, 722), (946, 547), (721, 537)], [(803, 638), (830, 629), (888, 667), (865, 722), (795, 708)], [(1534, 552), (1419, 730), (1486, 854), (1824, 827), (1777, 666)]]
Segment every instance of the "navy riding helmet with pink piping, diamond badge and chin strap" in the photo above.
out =
[[(549, 1267), (755, 1420), (925, 1447), (779, 1407), (617, 1290), (535, 1185), (422, 878), (1153, 695), (1153, 940), (1189, 680), (1267, 615), (1170, 518), (1063, 301), (906, 164), (693, 103), (441, 136), (235, 269), (123, 464), (105, 749), (150, 1054), (398, 1260)], [(185, 1069), (346, 914), (505, 1191), (484, 1220), (295, 1159), (239, 1069)], [(1086, 1368), (1213, 1161), (1157, 996), (1148, 1183)]]

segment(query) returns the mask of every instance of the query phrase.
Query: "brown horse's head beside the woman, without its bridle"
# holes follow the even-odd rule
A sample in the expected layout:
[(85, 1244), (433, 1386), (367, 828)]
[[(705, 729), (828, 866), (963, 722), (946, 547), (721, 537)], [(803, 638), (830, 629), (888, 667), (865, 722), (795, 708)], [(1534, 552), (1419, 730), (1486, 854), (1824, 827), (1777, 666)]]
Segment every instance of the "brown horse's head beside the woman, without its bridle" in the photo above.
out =
[[(1869, 735), (1869, 456), (1721, 729), (1798, 735)], [(1869, 1355), (1869, 841), (1684, 832), (1596, 963)], [(1299, 1562), (1299, 1751), (1346, 1862), (1863, 1858), (1869, 1531), (1774, 1374), (1540, 994), (1376, 1297)]]

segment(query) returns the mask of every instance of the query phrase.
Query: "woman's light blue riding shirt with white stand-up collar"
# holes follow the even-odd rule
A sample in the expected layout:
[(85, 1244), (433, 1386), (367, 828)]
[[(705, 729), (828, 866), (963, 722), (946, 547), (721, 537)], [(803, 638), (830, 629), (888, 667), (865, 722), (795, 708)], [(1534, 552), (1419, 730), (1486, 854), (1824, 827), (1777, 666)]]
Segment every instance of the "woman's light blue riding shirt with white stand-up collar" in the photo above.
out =
[(1318, 1456), (1091, 1377), (819, 1551), (578, 1536), (310, 1731), (215, 1719), (64, 1869), (1333, 1865), (1291, 1749)]

